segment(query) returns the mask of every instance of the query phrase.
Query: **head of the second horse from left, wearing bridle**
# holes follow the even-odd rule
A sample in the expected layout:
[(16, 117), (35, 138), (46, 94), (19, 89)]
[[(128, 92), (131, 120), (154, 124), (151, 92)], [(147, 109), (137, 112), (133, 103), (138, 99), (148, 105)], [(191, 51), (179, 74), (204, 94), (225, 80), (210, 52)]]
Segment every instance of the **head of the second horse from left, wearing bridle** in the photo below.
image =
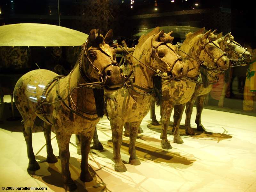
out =
[(180, 80), (187, 76), (188, 66), (182, 61), (181, 57), (175, 51), (176, 47), (172, 44), (174, 37), (172, 31), (168, 34), (164, 30), (157, 33), (151, 39), (152, 61), (151, 67), (166, 72), (168, 76), (176, 77)]

